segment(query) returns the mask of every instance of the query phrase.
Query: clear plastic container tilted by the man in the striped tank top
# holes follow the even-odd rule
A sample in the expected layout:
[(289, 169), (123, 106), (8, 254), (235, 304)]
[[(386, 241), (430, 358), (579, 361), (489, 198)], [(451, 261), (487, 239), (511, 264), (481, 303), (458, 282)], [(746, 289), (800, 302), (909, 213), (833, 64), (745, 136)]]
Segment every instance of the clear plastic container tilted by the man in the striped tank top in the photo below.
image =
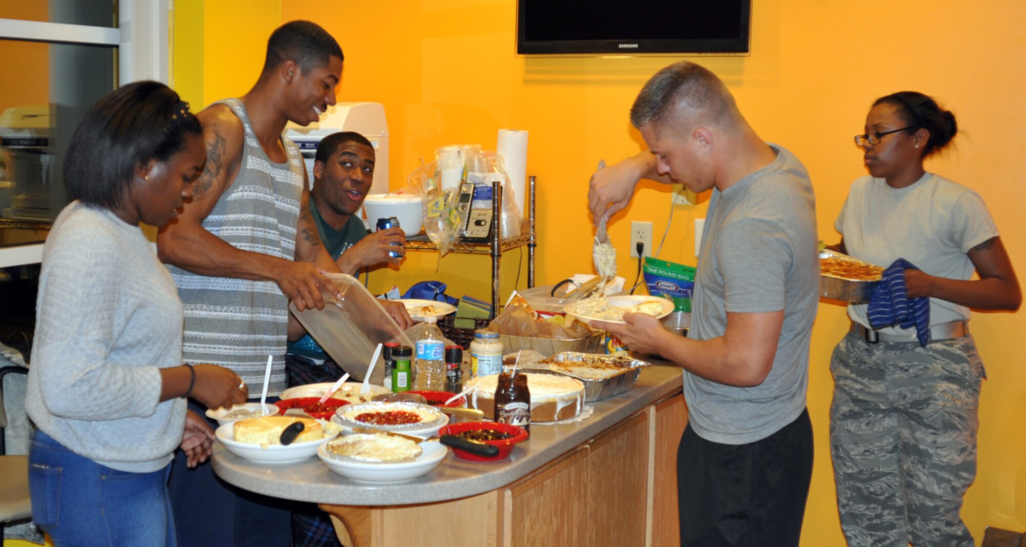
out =
[[(310, 336), (353, 379), (363, 381), (378, 344), (413, 345), (381, 302), (356, 278), (346, 274), (326, 277), (339, 288), (341, 300), (322, 288), (324, 309), (298, 311), (291, 302), (288, 307)], [(385, 362), (380, 356), (378, 361), (370, 382), (381, 385), (385, 378)]]

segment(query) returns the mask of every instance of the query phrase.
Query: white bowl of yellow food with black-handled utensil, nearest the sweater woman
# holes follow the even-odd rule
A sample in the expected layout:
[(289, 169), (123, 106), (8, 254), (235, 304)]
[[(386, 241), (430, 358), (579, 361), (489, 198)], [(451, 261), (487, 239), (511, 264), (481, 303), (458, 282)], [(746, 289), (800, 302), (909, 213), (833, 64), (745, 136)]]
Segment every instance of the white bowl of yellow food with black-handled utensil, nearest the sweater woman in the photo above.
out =
[[(295, 422), (303, 423), (303, 431), (290, 445), (281, 445), (281, 432)], [(312, 418), (265, 416), (227, 423), (218, 427), (214, 435), (228, 452), (240, 458), (259, 463), (292, 463), (317, 454), (317, 447), (339, 436), (339, 429)]]

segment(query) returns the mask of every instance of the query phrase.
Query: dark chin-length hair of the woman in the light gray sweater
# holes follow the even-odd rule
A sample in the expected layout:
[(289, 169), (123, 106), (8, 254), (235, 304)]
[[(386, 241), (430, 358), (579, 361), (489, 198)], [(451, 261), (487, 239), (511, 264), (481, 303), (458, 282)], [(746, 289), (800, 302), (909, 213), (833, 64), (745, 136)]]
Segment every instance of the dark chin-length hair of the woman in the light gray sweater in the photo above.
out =
[(133, 82), (89, 107), (72, 133), (64, 162), (68, 194), (93, 207), (116, 209), (137, 166), (166, 162), (203, 135), (179, 94), (160, 82)]

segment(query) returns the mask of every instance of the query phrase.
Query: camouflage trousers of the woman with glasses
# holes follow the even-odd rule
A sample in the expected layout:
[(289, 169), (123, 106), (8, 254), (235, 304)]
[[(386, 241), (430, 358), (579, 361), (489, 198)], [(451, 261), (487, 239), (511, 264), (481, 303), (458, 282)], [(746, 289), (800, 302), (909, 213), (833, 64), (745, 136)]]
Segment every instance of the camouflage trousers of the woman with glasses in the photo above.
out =
[(983, 363), (972, 336), (869, 343), (830, 361), (830, 452), (850, 547), (973, 547), (959, 516), (976, 477)]

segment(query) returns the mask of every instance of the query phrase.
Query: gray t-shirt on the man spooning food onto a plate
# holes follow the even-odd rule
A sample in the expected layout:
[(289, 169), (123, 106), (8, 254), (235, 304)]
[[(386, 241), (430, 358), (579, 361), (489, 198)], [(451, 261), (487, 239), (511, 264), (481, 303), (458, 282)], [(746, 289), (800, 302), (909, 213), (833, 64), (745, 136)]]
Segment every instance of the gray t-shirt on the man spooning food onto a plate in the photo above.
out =
[(805, 408), (819, 303), (816, 198), (801, 162), (770, 145), (773, 163), (713, 190), (702, 236), (689, 337), (722, 336), (728, 311), (784, 310), (773, 369), (761, 384), (734, 387), (684, 372), (690, 425), (713, 443), (765, 438)]

